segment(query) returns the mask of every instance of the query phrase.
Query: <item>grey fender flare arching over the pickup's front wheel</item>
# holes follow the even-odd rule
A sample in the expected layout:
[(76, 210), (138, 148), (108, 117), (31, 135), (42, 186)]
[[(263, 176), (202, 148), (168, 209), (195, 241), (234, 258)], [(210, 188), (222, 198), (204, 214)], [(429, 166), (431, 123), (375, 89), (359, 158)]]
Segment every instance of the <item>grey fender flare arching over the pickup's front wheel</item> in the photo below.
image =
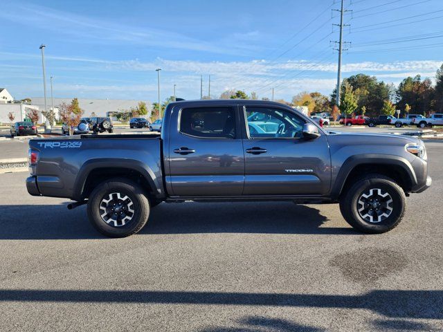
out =
[(352, 172), (352, 169), (363, 164), (395, 165), (397, 167), (401, 167), (404, 169), (406, 174), (408, 174), (412, 186), (414, 187), (417, 185), (417, 176), (415, 176), (414, 169), (406, 158), (387, 154), (357, 154), (347, 158), (343, 165), (341, 165), (340, 171), (338, 172), (334, 184), (332, 185), (332, 199), (338, 199), (338, 196), (340, 196), (347, 177)]

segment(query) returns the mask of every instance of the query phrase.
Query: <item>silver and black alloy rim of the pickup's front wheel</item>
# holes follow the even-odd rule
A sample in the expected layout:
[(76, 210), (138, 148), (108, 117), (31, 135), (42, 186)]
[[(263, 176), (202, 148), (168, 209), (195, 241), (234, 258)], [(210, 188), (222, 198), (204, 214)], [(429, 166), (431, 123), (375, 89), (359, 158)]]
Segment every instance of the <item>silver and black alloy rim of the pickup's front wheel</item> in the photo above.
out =
[(359, 216), (368, 223), (381, 223), (392, 214), (392, 196), (381, 188), (363, 192), (357, 201)]

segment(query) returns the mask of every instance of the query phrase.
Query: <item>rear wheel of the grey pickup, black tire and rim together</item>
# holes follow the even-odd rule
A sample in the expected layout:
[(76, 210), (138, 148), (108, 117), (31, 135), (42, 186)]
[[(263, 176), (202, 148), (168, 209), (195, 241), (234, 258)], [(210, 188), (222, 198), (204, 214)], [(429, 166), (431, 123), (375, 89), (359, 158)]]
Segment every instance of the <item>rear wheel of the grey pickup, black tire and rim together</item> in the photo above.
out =
[[(115, 204), (120, 205), (114, 208)], [(113, 208), (121, 214), (117, 214), (117, 217), (111, 214)], [(100, 183), (91, 192), (87, 212), (89, 221), (98, 232), (107, 237), (129, 237), (147, 223), (150, 203), (140, 185), (127, 178), (112, 178)]]

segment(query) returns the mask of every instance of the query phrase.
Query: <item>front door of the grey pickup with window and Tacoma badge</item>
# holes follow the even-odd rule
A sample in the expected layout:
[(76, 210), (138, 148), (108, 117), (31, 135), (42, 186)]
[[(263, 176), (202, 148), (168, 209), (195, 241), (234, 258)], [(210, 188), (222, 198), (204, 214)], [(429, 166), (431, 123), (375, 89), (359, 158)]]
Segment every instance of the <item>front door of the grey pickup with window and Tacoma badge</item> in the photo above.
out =
[[(274, 111), (278, 112), (275, 117)], [(288, 120), (282, 124), (286, 121), (285, 112), (289, 113)], [(305, 120), (284, 109), (250, 107), (246, 108), (245, 118), (248, 128), (256, 124), (255, 127), (266, 132), (248, 133), (248, 138), (244, 139), (244, 195), (323, 195), (329, 192), (329, 145), (323, 133), (313, 140), (302, 138)], [(278, 127), (280, 129), (275, 131)], [(263, 138), (264, 134), (274, 137)]]

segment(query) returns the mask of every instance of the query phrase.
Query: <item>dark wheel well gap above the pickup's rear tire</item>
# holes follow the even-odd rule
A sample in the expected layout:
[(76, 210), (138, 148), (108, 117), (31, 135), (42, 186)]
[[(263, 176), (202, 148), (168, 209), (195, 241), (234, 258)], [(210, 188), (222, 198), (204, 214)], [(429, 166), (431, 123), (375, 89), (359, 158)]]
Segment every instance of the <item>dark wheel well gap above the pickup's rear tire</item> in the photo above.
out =
[(128, 178), (129, 180), (134, 181), (135, 183), (140, 184), (143, 188), (145, 188), (147, 192), (147, 196), (152, 196), (153, 190), (150, 183), (147, 181), (145, 176), (143, 176), (140, 172), (134, 169), (127, 169), (123, 167), (100, 167), (93, 169), (87, 176), (86, 181), (84, 181), (83, 189), (82, 189), (82, 199), (87, 199), (89, 194), (94, 190), (94, 188), (102, 183), (103, 181), (107, 181), (110, 178)]

